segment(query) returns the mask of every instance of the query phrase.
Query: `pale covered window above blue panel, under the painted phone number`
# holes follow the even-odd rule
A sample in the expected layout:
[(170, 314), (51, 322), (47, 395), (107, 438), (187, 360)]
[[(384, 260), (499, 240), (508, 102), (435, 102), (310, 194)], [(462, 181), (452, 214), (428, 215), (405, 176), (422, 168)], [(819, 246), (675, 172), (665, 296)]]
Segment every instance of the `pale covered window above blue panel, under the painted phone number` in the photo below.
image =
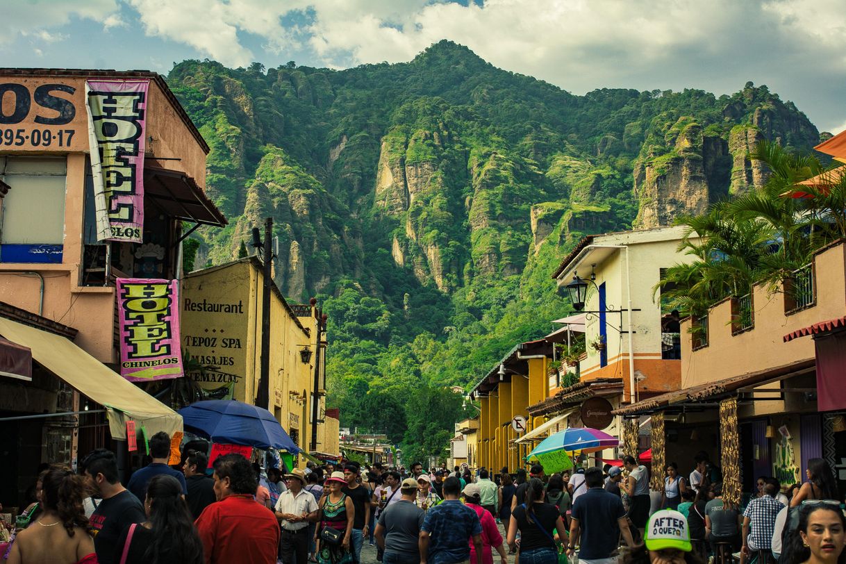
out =
[(65, 157), (0, 156), (0, 262), (62, 262)]

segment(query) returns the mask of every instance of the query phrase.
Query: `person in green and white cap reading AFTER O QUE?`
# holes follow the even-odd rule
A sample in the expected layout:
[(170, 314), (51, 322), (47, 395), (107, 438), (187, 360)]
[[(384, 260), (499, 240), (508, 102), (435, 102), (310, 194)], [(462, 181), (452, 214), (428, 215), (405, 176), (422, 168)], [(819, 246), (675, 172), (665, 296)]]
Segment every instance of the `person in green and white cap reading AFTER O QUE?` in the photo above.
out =
[(652, 513), (646, 523), (644, 544), (629, 550), (624, 564), (702, 564), (693, 552), (690, 528), (680, 512), (662, 509)]

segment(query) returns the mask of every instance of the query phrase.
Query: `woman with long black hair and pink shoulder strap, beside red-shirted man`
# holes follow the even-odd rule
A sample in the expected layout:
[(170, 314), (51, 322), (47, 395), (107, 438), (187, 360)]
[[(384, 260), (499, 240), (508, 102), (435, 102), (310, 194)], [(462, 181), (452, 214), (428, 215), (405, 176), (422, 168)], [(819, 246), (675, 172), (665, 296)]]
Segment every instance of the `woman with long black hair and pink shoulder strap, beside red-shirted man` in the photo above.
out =
[(125, 554), (126, 564), (204, 564), (203, 544), (177, 479), (154, 476), (147, 484), (144, 510), (147, 522), (124, 530), (115, 561)]

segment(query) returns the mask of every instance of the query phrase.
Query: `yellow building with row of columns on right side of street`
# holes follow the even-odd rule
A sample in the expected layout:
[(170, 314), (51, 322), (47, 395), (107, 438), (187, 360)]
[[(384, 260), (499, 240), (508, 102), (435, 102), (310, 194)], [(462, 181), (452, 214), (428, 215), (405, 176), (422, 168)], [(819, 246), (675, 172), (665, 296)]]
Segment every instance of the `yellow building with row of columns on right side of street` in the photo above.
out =
[(542, 417), (530, 418), (527, 408), (548, 396), (547, 371), (551, 358), (549, 342), (543, 339), (522, 342), (470, 391), (470, 398), (478, 399), (481, 407), (475, 466), (496, 471), (507, 466), (509, 471), (514, 471), (524, 465), (530, 447), (514, 443), (522, 433), (514, 430), (512, 421), (515, 417), (524, 418), (526, 430), (544, 422)]

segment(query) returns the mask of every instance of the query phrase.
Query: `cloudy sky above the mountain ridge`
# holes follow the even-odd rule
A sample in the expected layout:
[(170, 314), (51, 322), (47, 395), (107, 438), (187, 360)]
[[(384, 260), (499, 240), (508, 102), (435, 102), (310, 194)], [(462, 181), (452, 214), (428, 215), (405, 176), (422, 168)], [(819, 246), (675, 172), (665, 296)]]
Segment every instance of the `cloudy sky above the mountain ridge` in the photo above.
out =
[(0, 0), (0, 65), (347, 68), (441, 39), (574, 94), (746, 81), (846, 129), (843, 0)]

